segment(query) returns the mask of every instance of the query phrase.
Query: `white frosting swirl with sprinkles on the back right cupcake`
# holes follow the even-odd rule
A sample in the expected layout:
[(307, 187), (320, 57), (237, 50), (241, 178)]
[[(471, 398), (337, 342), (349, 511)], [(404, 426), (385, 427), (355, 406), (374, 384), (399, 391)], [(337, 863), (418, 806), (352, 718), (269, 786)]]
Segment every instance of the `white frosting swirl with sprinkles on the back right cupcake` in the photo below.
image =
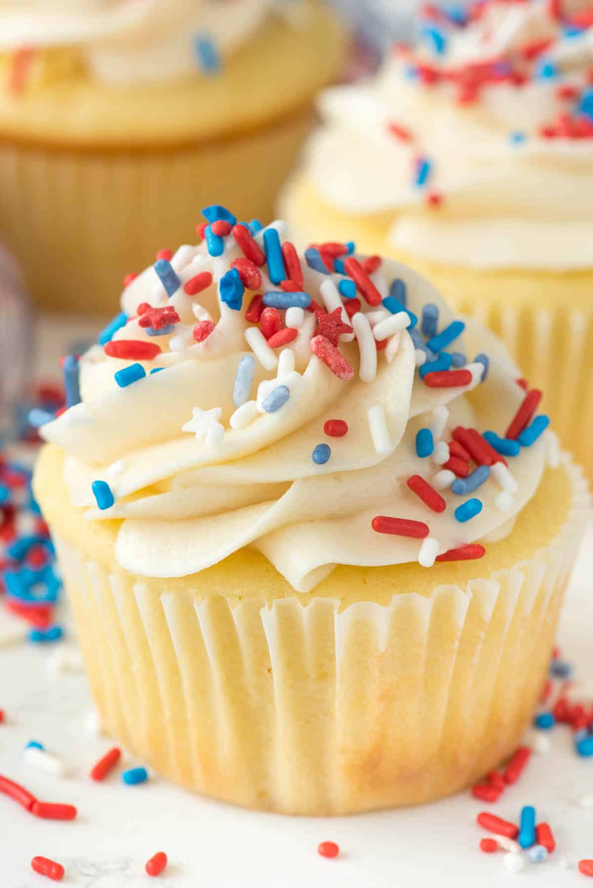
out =
[[(562, 20), (548, 0), (481, 4), (463, 28), (430, 23), (442, 54), (399, 52), (368, 82), (326, 91), (305, 165), (321, 197), (384, 219), (393, 246), (423, 258), (593, 265), (593, 139), (562, 135), (567, 125), (593, 131), (593, 28), (569, 30), (583, 9), (591, 18), (590, 3), (560, 5)], [(480, 66), (493, 75), (481, 86)], [(418, 158), (431, 163), (423, 187)]]

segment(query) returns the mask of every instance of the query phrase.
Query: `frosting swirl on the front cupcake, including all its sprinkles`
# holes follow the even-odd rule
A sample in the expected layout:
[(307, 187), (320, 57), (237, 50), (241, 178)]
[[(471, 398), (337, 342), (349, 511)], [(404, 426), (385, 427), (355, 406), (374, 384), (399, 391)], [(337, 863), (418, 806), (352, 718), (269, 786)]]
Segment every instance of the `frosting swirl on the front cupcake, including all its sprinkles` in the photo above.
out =
[(73, 503), (121, 522), (120, 565), (185, 576), (253, 547), (306, 592), (510, 533), (555, 439), (502, 345), (407, 266), (203, 214), (65, 360), (41, 429)]

